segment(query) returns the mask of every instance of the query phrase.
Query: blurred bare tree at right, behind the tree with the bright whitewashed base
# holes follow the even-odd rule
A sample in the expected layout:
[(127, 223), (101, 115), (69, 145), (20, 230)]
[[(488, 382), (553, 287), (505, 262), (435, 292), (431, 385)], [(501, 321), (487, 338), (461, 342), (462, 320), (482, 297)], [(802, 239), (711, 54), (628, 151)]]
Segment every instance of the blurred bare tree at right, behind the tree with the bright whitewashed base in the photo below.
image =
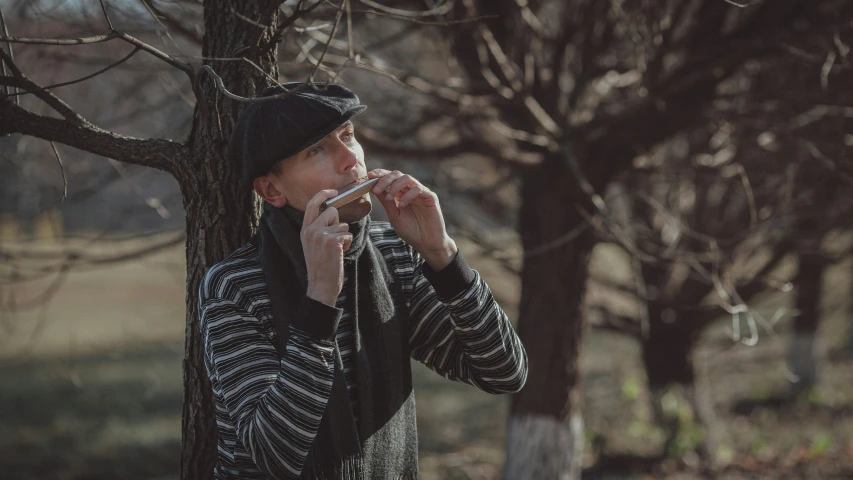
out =
[[(836, 65), (836, 55), (830, 49), (826, 57), (801, 53), (745, 65), (721, 85), (704, 113), (706, 125), (638, 158), (608, 199), (629, 204), (614, 220), (636, 247), (629, 254), (637, 282), (598, 285), (633, 296), (640, 307), (635, 316), (620, 315), (599, 300), (594, 318), (641, 342), (659, 416), (664, 390), (680, 385), (703, 419), (699, 407), (708, 402), (695, 398), (693, 349), (720, 318), (734, 341), (754, 345), (792, 316), (795, 389), (815, 380), (821, 277), (845, 253), (821, 243), (833, 229), (846, 229), (845, 192), (853, 185), (844, 148), (850, 98), (842, 87), (853, 72), (845, 62)], [(617, 241), (610, 232), (603, 238)], [(796, 259), (796, 275), (780, 273)], [(792, 289), (794, 309), (768, 314), (753, 305)], [(669, 426), (671, 445), (677, 432)]]

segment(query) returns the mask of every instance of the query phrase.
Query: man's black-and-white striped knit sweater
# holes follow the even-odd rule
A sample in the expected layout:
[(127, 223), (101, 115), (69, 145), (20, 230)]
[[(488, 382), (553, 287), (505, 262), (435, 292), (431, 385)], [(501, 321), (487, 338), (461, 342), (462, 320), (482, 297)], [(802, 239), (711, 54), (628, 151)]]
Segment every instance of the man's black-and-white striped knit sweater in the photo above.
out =
[[(461, 257), (432, 272), (387, 222), (373, 222), (369, 235), (401, 282), (412, 358), (485, 392), (521, 389), (527, 356), (479, 274)], [(461, 278), (472, 280), (462, 288), (448, 287), (458, 286)], [(337, 307), (346, 304), (342, 293)], [(199, 307), (219, 431), (215, 478), (297, 477), (332, 390), (335, 343), (291, 326), (279, 360), (271, 304), (251, 243), (207, 272)], [(353, 323), (346, 309), (340, 315), (335, 339), (356, 402)]]

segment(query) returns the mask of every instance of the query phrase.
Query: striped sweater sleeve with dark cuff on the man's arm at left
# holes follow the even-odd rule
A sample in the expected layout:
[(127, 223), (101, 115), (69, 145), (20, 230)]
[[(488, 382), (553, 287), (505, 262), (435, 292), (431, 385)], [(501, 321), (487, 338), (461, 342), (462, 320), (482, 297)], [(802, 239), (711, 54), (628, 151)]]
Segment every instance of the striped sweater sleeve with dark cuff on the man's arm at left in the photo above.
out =
[[(331, 322), (333, 335), (340, 310), (312, 302), (303, 301), (294, 324)], [(329, 328), (289, 327), (279, 360), (260, 320), (233, 301), (208, 299), (200, 311), (208, 374), (239, 441), (270, 477), (297, 478), (332, 391)]]

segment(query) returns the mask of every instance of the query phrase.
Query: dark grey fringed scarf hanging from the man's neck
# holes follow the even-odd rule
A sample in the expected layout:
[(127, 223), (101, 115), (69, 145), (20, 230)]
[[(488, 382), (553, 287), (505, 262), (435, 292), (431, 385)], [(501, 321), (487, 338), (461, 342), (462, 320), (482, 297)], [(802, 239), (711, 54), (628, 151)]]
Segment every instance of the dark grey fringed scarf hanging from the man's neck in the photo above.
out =
[[(303, 216), (304, 212), (290, 206), (278, 209), (265, 202), (255, 239), (272, 303), (279, 357), (289, 338), (290, 319), (308, 287), (300, 239)], [(302, 469), (303, 479), (417, 476), (408, 316), (399, 283), (370, 241), (369, 230), (369, 217), (350, 224), (353, 241), (344, 255), (348, 288), (344, 308), (351, 314), (356, 340), (358, 421), (335, 342), (332, 393)]]

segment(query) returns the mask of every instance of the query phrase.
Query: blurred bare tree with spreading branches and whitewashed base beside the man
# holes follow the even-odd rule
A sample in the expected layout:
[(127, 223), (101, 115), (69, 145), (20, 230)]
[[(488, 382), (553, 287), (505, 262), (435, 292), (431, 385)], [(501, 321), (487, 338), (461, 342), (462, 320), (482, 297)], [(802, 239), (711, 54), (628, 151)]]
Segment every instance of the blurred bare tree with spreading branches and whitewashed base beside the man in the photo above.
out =
[(847, 37), (851, 12), (836, 1), (461, 3), (443, 18), (485, 18), (445, 39), (445, 66), (398, 75), (434, 99), (415, 131), (441, 129), (445, 141), (412, 145), (406, 129), (390, 129), (367, 143), (425, 159), (484, 155), (520, 179), (519, 334), (530, 375), (513, 398), (504, 475), (575, 478), (590, 253), (602, 230), (641, 253), (614, 228), (602, 193), (637, 158), (707, 125), (715, 103), (737, 103), (740, 93), (721, 86), (749, 77), (748, 67), (846, 56), (832, 37)]

